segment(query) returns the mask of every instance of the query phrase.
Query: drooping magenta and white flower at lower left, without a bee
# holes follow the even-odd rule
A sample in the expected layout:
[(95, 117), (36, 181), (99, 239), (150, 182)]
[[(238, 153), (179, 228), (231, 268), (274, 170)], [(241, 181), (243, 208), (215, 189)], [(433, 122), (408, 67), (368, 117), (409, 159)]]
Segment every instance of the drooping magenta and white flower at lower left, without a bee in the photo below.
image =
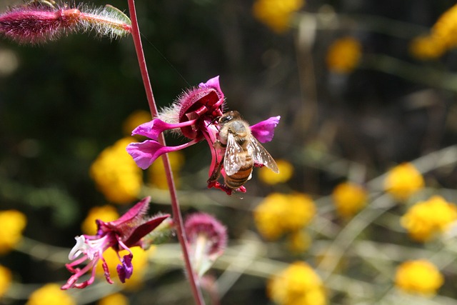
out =
[[(119, 261), (121, 262), (116, 268), (119, 279), (123, 283), (126, 279), (129, 279), (134, 271), (132, 264), (134, 255), (130, 248), (134, 246), (146, 248), (149, 246), (149, 244), (144, 243), (144, 236), (156, 229), (162, 221), (169, 217), (168, 214), (154, 217), (146, 216), (150, 200), (149, 197), (146, 197), (139, 201), (126, 214), (115, 221), (104, 222), (97, 220), (98, 231), (96, 235), (76, 236), (76, 245), (69, 254), (69, 259), (74, 261), (66, 264), (66, 268), (74, 275), (70, 277), (61, 289), (84, 288), (92, 284), (95, 279), (96, 266), (100, 260), (105, 271), (106, 281), (112, 284), (109, 267), (104, 259), (104, 251), (109, 248), (118, 253)], [(128, 251), (128, 254), (121, 257), (119, 255), (121, 250)], [(78, 258), (79, 256), (81, 257)], [(84, 261), (89, 261), (89, 263), (80, 269), (78, 266)], [(78, 283), (79, 278), (89, 271), (91, 272), (91, 277)]]

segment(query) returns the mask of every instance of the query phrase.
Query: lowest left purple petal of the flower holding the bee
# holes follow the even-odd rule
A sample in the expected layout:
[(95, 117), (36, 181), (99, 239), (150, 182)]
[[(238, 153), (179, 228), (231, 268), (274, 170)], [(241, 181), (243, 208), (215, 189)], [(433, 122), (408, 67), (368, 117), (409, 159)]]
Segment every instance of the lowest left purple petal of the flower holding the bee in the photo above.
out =
[(126, 150), (129, 155), (134, 158), (136, 165), (138, 165), (141, 169), (147, 169), (154, 161), (156, 161), (157, 158), (159, 158), (159, 156), (170, 151), (185, 149), (186, 147), (194, 145), (199, 141), (200, 139), (198, 141), (193, 140), (178, 146), (164, 146), (159, 144), (157, 141), (146, 140), (141, 143), (131, 143), (127, 145)]

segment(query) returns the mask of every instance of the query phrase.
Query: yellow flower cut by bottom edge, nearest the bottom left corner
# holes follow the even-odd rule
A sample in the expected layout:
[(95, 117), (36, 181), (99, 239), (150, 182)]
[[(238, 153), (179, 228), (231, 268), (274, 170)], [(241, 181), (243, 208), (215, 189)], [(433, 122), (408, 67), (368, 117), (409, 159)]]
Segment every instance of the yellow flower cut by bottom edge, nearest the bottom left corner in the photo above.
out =
[(76, 301), (57, 284), (46, 284), (34, 291), (26, 305), (76, 305)]

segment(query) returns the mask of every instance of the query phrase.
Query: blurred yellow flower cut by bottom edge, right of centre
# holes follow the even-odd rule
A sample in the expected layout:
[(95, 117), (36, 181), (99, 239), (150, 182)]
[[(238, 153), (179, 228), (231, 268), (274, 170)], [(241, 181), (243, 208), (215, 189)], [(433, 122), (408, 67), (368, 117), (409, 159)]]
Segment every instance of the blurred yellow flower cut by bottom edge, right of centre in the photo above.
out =
[(273, 276), (267, 286), (270, 299), (280, 305), (325, 305), (323, 284), (316, 272), (303, 261), (296, 261)]

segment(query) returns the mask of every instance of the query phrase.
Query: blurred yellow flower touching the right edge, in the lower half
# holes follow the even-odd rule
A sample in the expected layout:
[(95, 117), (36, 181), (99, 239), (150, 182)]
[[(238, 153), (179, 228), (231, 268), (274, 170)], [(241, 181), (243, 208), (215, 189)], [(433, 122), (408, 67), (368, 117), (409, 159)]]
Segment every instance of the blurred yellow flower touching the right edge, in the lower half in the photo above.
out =
[(416, 241), (427, 241), (434, 235), (445, 232), (457, 220), (457, 207), (441, 196), (420, 201), (411, 206), (403, 217), (401, 226)]

